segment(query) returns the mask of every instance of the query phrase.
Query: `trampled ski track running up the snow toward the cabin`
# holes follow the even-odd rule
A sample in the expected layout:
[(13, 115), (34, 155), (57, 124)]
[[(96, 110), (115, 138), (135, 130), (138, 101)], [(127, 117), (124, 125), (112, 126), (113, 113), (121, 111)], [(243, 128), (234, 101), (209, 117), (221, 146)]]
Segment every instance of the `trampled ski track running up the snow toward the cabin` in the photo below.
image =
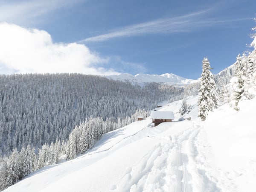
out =
[(206, 161), (201, 161), (203, 154), (198, 154), (197, 136), (201, 129), (193, 122), (192, 127), (174, 137), (158, 137), (157, 145), (128, 168), (111, 189), (116, 192), (221, 192), (218, 180), (208, 174)]

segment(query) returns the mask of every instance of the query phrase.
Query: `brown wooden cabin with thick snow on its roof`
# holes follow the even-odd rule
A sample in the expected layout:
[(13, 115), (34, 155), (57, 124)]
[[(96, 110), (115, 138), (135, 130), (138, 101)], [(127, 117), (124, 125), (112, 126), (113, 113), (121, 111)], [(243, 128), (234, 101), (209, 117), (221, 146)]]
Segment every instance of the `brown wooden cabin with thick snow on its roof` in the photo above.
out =
[(151, 111), (150, 116), (154, 126), (157, 126), (162, 122), (172, 122), (174, 119), (174, 114), (172, 111)]

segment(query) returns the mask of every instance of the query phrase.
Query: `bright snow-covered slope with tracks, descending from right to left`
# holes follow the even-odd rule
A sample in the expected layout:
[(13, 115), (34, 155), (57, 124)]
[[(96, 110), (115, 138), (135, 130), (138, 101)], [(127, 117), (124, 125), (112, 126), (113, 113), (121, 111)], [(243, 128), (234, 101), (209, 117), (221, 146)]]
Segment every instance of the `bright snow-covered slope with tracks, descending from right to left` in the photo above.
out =
[(240, 111), (223, 105), (201, 122), (197, 97), (180, 119), (182, 101), (158, 108), (175, 121), (157, 127), (151, 119), (105, 134), (80, 157), (48, 166), (6, 192), (253, 192), (256, 189), (256, 99)]

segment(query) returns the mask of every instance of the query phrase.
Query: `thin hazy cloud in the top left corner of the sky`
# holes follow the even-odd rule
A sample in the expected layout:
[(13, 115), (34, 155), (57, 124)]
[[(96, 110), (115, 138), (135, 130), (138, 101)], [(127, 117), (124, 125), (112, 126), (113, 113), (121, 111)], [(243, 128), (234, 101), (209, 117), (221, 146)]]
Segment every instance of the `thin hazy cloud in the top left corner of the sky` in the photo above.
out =
[(57, 9), (70, 7), (81, 0), (8, 0), (0, 2), (0, 21), (16, 24), (38, 22)]

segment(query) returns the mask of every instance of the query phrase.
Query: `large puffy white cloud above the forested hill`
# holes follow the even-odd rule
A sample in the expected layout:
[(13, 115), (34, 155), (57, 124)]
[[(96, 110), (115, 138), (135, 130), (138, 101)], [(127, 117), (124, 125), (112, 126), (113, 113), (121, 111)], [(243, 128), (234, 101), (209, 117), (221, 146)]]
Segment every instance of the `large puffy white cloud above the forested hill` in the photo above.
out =
[(0, 23), (0, 68), (12, 73), (118, 74), (83, 44), (53, 43), (46, 31)]

